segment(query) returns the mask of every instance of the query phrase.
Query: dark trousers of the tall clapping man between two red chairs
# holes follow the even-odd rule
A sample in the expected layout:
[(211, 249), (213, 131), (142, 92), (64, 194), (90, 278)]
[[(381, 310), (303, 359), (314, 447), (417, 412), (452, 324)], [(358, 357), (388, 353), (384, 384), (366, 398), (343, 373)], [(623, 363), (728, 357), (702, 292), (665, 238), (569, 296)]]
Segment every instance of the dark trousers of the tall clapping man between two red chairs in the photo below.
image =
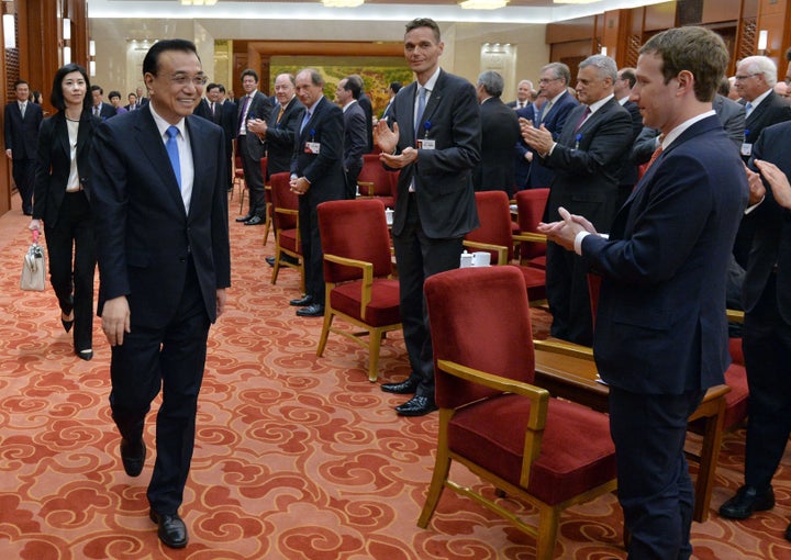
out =
[(401, 323), (412, 367), (410, 379), (419, 382), (419, 395), (434, 396), (434, 354), (423, 282), (432, 275), (459, 267), (461, 243), (461, 237), (426, 237), (414, 194), (409, 195), (406, 223), (401, 235), (393, 236), (393, 247), (401, 292)]

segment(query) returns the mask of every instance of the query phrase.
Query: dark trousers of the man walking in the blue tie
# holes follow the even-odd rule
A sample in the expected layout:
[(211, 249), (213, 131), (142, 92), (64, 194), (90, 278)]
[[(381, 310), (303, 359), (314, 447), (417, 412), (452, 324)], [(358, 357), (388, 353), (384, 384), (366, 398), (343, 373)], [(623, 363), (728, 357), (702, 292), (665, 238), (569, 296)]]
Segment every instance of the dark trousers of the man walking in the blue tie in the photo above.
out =
[(110, 365), (110, 406), (124, 439), (140, 439), (161, 388), (156, 462), (147, 496), (152, 508), (164, 515), (176, 513), (183, 499), (209, 336), (209, 315), (191, 262), (188, 270), (178, 310), (167, 325), (137, 325), (132, 307), (132, 332), (124, 334), (123, 345), (112, 347)]

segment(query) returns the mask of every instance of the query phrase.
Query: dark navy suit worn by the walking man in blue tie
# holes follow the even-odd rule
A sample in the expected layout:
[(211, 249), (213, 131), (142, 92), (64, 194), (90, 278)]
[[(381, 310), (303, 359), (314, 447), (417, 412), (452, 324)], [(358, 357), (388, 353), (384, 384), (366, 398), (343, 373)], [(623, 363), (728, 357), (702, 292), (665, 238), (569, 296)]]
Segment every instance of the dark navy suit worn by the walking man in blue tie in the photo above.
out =
[(98, 313), (122, 295), (131, 312), (131, 333), (112, 347), (112, 415), (124, 439), (140, 440), (161, 388), (147, 496), (155, 512), (170, 515), (189, 473), (216, 291), (231, 285), (227, 171), (222, 128), (188, 116), (194, 168), (188, 212), (151, 107), (99, 126), (90, 190), (101, 232)]

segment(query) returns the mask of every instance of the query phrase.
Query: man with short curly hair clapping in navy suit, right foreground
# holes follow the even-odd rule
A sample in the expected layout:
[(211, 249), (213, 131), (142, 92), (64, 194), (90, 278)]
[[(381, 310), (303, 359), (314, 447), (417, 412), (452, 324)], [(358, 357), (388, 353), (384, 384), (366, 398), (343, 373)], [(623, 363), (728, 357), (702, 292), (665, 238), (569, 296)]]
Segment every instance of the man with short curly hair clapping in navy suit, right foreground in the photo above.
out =
[(632, 99), (662, 152), (619, 211), (610, 238), (582, 216), (539, 231), (602, 276), (593, 355), (610, 387), (617, 495), (630, 558), (687, 559), (694, 490), (687, 418), (724, 382), (725, 277), (747, 204), (742, 161), (711, 109), (728, 52), (677, 27), (639, 52)]

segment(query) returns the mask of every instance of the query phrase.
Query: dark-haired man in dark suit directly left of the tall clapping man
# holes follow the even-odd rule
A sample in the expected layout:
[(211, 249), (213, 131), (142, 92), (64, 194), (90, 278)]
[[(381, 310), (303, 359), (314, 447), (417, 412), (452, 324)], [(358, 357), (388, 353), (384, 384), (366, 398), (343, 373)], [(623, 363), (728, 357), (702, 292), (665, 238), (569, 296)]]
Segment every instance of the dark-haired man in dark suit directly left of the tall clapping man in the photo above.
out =
[(365, 111), (358, 103), (361, 91), (356, 81), (344, 78), (335, 90), (337, 102), (344, 112), (344, 171), (346, 172), (346, 198), (354, 199), (357, 178), (363, 170), (363, 154), (368, 149)]

